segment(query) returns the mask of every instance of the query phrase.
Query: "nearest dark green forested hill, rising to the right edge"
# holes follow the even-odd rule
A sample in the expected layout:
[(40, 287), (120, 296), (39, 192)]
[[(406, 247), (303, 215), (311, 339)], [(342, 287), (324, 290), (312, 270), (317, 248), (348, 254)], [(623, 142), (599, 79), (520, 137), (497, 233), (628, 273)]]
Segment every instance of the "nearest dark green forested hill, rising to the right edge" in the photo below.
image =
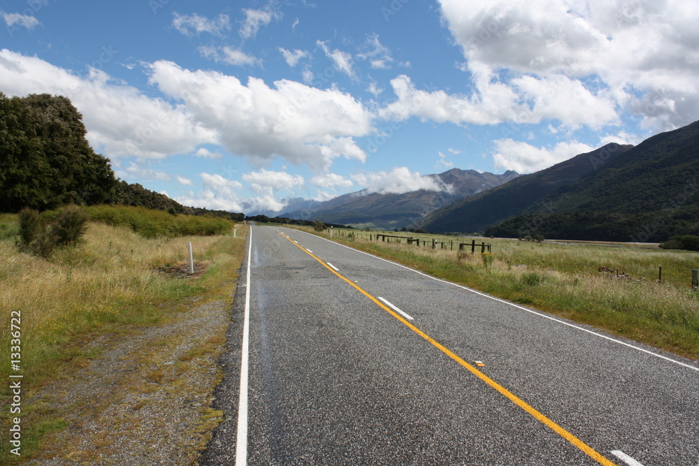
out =
[(519, 213), (486, 234), (635, 242), (699, 235), (699, 122), (644, 140)]

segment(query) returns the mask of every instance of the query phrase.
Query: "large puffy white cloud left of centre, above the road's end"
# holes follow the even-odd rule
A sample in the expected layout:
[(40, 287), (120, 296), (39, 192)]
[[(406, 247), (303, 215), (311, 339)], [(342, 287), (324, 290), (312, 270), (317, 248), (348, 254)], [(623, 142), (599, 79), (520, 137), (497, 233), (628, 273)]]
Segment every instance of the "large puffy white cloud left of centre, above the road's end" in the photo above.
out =
[(215, 131), (229, 152), (261, 166), (275, 156), (322, 171), (333, 159), (366, 160), (354, 137), (366, 136), (372, 113), (349, 94), (280, 80), (268, 87), (258, 78), (243, 85), (217, 71), (189, 71), (171, 61), (151, 66), (150, 81), (182, 99), (202, 126)]

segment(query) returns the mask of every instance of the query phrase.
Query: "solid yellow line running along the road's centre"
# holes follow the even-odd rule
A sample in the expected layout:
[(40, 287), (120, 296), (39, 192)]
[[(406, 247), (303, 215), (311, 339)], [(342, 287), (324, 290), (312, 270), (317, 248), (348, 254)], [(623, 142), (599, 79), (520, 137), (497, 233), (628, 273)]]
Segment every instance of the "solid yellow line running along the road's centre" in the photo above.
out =
[(361, 289), (356, 283), (352, 282), (352, 280), (348, 279), (347, 277), (344, 277), (343, 275), (340, 275), (339, 272), (336, 270), (333, 270), (329, 265), (327, 265), (324, 261), (319, 259), (317, 256), (314, 254), (308, 252), (308, 249), (305, 249), (303, 246), (298, 245), (298, 243), (294, 242), (289, 238), (287, 235), (284, 235), (280, 233), (280, 235), (284, 236), (284, 238), (287, 238), (289, 242), (291, 242), (292, 245), (297, 246), (299, 249), (301, 249), (303, 252), (311, 256), (313, 259), (321, 263), (326, 269), (330, 270), (333, 272), (333, 274), (337, 275), (341, 279), (345, 280), (345, 282), (349, 283), (352, 285), (357, 291), (362, 293), (364, 296), (372, 300), (376, 305), (382, 310), (388, 312), (392, 316), (394, 316), (396, 319), (401, 321), (402, 323), (405, 324), (405, 326), (408, 326), (410, 330), (414, 331), (417, 333), (417, 335), (420, 335), (423, 337), (425, 340), (433, 344), (434, 347), (442, 351), (442, 353), (446, 354), (449, 356), (449, 358), (452, 358), (454, 361), (457, 363), (461, 364), (463, 367), (466, 367), (470, 372), (472, 372), (476, 377), (484, 381), (486, 384), (491, 386), (492, 388), (495, 388), (498, 392), (500, 392), (502, 395), (505, 396), (508, 400), (512, 401), (515, 405), (519, 406), (521, 409), (524, 409), (524, 411), (528, 412), (532, 416), (534, 416), (538, 421), (541, 423), (547, 425), (548, 428), (556, 432), (558, 435), (563, 437), (564, 439), (568, 440), (571, 444), (577, 446), (578, 449), (582, 450), (586, 455), (588, 455), (590, 458), (593, 460), (596, 460), (600, 465), (605, 465), (605, 466), (616, 466), (614, 463), (612, 463), (610, 460), (607, 460), (604, 456), (600, 455), (595, 449), (593, 449), (591, 446), (580, 440), (579, 438), (575, 437), (575, 435), (572, 435), (568, 430), (565, 430), (562, 428), (560, 425), (556, 424), (554, 421), (551, 419), (547, 418), (544, 414), (541, 412), (538, 412), (536, 409), (534, 409), (531, 405), (528, 405), (524, 400), (521, 400), (521, 398), (517, 397), (517, 395), (514, 395), (511, 391), (507, 390), (507, 388), (503, 387), (502, 385), (498, 384), (498, 382), (494, 381), (490, 377), (488, 377), (486, 374), (481, 372), (480, 370), (477, 370), (476, 367), (473, 367), (473, 365), (470, 365), (466, 361), (463, 361), (463, 359), (459, 358), (459, 356), (456, 356), (456, 354), (452, 353), (452, 351), (449, 351), (446, 347), (442, 346), (439, 342), (434, 340), (432, 337), (424, 333), (422, 330), (414, 326), (412, 323), (410, 323), (408, 320), (403, 319), (403, 316), (397, 314), (392, 310), (390, 307), (387, 307), (387, 305), (384, 305), (380, 300), (377, 300), (377, 298), (374, 298), (371, 296), (369, 293)]

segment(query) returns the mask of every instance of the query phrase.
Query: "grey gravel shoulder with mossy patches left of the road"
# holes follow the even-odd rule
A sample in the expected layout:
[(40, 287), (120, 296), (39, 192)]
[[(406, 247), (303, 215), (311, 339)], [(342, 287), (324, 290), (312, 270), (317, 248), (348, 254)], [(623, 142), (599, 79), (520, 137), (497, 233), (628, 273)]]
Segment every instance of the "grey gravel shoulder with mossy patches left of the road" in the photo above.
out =
[[(231, 297), (232, 300), (232, 297)], [(67, 427), (30, 465), (196, 465), (222, 412), (212, 409), (231, 300), (192, 298), (165, 323), (103, 335), (29, 403)]]

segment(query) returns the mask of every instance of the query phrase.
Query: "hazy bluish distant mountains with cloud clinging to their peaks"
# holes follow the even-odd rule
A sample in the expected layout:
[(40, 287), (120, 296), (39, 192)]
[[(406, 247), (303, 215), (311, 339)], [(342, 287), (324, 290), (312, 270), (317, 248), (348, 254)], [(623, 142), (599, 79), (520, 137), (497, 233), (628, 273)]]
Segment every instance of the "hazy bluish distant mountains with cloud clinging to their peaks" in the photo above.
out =
[(426, 176), (437, 178), (442, 184), (451, 187), (450, 190), (420, 189), (403, 194), (379, 194), (363, 189), (319, 203), (315, 207), (281, 214), (280, 217), (319, 219), (326, 223), (352, 225), (355, 228), (400, 229), (419, 221), (443, 205), (514, 180), (519, 174), (507, 171), (502, 175), (493, 175), (452, 168), (439, 175)]

